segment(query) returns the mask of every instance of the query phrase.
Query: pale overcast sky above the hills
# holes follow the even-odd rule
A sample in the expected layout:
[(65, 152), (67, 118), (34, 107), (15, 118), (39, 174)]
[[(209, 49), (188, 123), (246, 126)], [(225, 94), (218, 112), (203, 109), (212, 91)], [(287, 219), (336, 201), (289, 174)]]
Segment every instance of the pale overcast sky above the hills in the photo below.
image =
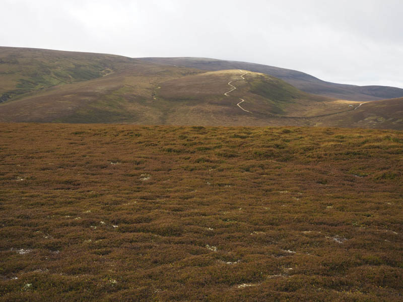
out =
[(0, 0), (0, 46), (210, 57), (403, 88), (401, 0)]

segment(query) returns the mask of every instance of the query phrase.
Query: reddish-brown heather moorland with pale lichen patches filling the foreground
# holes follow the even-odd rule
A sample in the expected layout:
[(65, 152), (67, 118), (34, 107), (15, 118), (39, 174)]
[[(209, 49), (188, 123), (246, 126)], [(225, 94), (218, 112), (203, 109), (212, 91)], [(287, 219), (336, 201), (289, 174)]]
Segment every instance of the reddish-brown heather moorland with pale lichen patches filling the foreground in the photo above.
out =
[(11, 123), (0, 141), (0, 301), (401, 300), (400, 131)]

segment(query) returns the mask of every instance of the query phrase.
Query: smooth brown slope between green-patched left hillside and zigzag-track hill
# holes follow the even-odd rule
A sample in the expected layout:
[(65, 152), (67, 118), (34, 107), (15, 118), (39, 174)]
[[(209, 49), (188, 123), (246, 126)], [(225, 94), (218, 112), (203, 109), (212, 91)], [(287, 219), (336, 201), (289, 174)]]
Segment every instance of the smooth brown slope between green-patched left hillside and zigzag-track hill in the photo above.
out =
[(155, 124), (164, 112), (153, 100), (158, 84), (197, 72), (132, 60), (104, 77), (50, 87), (0, 104), (0, 121)]

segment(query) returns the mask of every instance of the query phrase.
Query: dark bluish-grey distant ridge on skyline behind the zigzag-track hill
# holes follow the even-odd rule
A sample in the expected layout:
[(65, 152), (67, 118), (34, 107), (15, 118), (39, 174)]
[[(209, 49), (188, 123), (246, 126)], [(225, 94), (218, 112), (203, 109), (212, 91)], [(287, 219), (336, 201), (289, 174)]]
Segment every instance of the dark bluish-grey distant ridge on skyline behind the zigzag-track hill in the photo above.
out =
[(319, 80), (312, 75), (301, 71), (255, 63), (193, 57), (142, 58), (142, 60), (159, 64), (186, 66), (205, 70), (251, 70), (272, 75), (273, 77), (290, 83), (291, 85), (304, 92), (323, 95), (341, 100), (374, 101), (403, 97), (403, 89), (400, 88), (386, 86), (355, 86), (335, 84)]

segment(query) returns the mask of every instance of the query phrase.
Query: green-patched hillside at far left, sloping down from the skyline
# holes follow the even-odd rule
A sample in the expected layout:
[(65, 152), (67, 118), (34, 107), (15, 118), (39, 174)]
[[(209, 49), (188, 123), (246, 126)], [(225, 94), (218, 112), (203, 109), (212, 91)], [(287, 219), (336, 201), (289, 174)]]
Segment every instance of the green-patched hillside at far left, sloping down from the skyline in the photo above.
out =
[(136, 61), (110, 54), (0, 47), (0, 102), (55, 85), (100, 78)]

